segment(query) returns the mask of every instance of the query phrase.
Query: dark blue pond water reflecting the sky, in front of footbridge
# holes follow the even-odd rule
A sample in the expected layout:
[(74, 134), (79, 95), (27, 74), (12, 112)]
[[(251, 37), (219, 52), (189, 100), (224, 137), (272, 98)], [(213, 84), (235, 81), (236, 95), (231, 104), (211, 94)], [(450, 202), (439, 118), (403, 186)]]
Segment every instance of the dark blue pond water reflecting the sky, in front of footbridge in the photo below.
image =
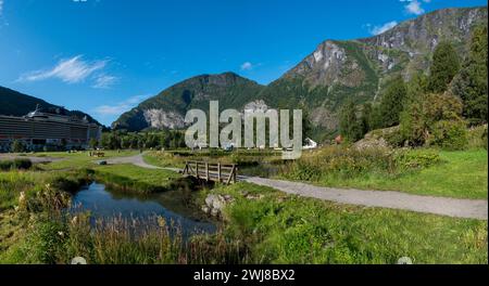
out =
[(181, 227), (184, 236), (196, 233), (213, 233), (216, 225), (199, 218), (200, 212), (185, 205), (179, 191), (137, 197), (112, 192), (105, 185), (91, 183), (83, 187), (72, 199), (76, 211), (90, 211), (93, 218), (134, 218), (154, 221), (156, 216)]

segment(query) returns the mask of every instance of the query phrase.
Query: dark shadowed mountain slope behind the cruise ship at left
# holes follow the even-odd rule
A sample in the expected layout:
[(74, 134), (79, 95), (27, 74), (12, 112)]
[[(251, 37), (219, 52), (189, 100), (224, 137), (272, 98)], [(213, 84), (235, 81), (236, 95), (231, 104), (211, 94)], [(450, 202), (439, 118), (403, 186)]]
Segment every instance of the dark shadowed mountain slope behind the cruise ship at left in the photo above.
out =
[(86, 116), (88, 121), (100, 125), (90, 115), (83, 112), (66, 110), (64, 107), (53, 105), (43, 100), (0, 87), (0, 115), (24, 116), (36, 109), (38, 104), (43, 108), (61, 108), (70, 116), (76, 116), (78, 118), (84, 118)]

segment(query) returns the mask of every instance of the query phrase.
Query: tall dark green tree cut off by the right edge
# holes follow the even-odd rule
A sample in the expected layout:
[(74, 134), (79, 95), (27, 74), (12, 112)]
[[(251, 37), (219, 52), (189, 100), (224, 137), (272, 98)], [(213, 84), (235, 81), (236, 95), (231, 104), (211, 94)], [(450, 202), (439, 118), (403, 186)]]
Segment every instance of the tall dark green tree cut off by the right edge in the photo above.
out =
[(452, 86), (453, 94), (463, 100), (464, 117), (472, 123), (488, 121), (487, 36), (487, 26), (474, 29), (469, 55)]

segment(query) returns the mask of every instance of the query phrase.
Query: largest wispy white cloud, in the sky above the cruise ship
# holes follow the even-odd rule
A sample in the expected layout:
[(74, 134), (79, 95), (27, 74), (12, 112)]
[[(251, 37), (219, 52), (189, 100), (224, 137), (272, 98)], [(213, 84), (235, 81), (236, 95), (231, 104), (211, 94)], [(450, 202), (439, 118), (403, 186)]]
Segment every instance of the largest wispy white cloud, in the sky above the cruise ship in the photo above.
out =
[(87, 62), (82, 60), (83, 55), (77, 55), (72, 58), (61, 60), (57, 66), (46, 70), (35, 70), (24, 74), (18, 79), (20, 81), (39, 81), (50, 78), (58, 78), (66, 83), (78, 83), (84, 81), (95, 72), (103, 69), (108, 61), (92, 61)]

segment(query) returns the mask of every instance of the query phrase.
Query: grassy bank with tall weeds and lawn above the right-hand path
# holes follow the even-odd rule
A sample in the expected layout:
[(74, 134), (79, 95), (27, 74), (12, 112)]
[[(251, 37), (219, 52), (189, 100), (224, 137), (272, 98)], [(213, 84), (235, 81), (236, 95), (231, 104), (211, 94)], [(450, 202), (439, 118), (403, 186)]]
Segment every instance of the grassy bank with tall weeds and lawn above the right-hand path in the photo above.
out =
[(329, 147), (289, 164), (280, 177), (323, 186), (487, 199), (487, 174), (486, 150), (356, 152)]

